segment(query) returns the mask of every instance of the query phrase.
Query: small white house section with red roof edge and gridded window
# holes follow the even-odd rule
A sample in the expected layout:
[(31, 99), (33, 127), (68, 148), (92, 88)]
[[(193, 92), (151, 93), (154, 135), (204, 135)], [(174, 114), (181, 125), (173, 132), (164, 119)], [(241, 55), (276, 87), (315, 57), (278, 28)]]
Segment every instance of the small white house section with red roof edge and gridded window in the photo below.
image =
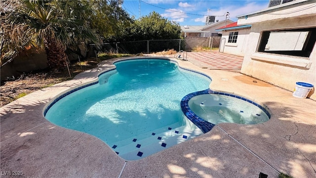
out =
[(220, 52), (244, 56), (250, 28), (251, 25), (237, 25), (237, 22), (234, 22), (216, 29), (222, 31)]

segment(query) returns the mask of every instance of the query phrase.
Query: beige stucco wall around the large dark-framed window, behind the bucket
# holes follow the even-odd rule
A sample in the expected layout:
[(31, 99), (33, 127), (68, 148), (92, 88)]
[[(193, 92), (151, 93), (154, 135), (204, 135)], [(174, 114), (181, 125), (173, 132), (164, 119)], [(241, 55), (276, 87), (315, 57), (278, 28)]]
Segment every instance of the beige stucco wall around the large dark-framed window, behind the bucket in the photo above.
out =
[[(294, 90), (296, 82), (306, 82), (316, 86), (316, 45), (309, 57), (257, 52), (262, 31), (306, 27), (316, 27), (314, 15), (252, 24), (248, 44), (244, 50), (241, 73), (291, 91)], [(308, 97), (316, 100), (315, 87)]]

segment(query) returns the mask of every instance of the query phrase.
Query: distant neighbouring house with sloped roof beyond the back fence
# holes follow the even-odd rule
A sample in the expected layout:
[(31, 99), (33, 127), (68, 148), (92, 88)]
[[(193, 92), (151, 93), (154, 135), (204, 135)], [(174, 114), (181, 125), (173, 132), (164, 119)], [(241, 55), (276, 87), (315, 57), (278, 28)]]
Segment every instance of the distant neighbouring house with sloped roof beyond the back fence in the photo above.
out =
[(215, 31), (215, 29), (225, 26), (225, 24), (233, 23), (232, 20), (223, 20), (219, 22), (213, 22), (208, 25), (181, 26), (182, 36), (184, 37), (218, 37), (221, 33)]

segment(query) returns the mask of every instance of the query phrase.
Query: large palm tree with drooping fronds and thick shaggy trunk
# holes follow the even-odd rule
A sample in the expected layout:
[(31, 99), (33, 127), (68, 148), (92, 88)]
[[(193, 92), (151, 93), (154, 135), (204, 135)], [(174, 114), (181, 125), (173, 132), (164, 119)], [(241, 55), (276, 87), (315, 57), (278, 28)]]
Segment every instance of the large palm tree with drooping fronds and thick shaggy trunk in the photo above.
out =
[(65, 67), (66, 48), (98, 39), (86, 20), (89, 13), (89, 7), (79, 0), (21, 1), (5, 17), (6, 26), (0, 29), (7, 35), (6, 52), (23, 51), (26, 47), (44, 49), (48, 67)]

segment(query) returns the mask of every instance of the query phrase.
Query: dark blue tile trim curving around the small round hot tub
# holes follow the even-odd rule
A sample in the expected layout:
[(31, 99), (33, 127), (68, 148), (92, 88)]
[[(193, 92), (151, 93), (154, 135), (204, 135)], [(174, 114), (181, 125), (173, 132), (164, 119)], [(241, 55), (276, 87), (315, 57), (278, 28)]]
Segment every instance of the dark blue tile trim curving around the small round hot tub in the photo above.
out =
[[(224, 92), (218, 92), (218, 91), (213, 91), (211, 89), (205, 89), (205, 90), (202, 90), (202, 91), (197, 91), (197, 92), (193, 92), (193, 93), (189, 93), (187, 94), (186, 96), (184, 96), (182, 99), (181, 99), (181, 110), (182, 112), (184, 113), (184, 115), (191, 121), (193, 122), (203, 133), (207, 133), (209, 132), (214, 126), (215, 124), (212, 124), (210, 122), (207, 122), (205, 120), (203, 120), (202, 118), (198, 117), (189, 107), (189, 100), (191, 98), (193, 98), (194, 96), (197, 96), (197, 95), (201, 95), (201, 94), (221, 94), (221, 95), (226, 95), (226, 96), (231, 96), (231, 97), (235, 97), (235, 98), (238, 98), (238, 99), (242, 99), (244, 101), (247, 101), (255, 106), (257, 106), (258, 108), (260, 108), (261, 110), (263, 110), (269, 117), (269, 119), (271, 118), (271, 114), (269, 113), (269, 111), (261, 106), (260, 104), (250, 100), (250, 99), (247, 99), (247, 98), (244, 98), (244, 97), (241, 97), (241, 96), (238, 96), (236, 94), (231, 94), (231, 93), (224, 93)], [(243, 112), (243, 111), (240, 111), (240, 112)]]

